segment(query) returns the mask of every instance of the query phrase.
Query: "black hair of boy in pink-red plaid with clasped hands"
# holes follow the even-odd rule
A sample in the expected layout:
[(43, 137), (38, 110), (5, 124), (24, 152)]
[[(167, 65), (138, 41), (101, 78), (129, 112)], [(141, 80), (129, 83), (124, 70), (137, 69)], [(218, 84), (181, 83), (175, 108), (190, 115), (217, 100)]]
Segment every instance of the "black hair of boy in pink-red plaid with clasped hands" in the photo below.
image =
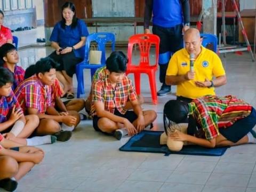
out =
[(50, 57), (41, 58), (35, 64), (34, 74), (39, 74), (39, 73), (44, 74), (46, 72), (49, 72), (51, 69), (57, 69), (58, 67), (59, 67), (59, 63), (55, 62), (52, 58)]

